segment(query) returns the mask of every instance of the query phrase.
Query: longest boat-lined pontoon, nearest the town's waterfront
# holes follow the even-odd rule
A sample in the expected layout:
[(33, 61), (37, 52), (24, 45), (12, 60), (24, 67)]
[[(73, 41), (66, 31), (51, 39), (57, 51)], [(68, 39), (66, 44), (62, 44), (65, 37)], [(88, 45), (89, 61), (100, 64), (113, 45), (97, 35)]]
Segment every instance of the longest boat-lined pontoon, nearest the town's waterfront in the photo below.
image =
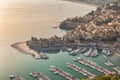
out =
[(95, 62), (92, 62), (92, 61), (88, 61), (88, 60), (84, 60), (82, 58), (76, 58), (76, 59), (73, 59), (74, 61), (76, 62), (79, 62), (80, 64), (83, 64), (85, 66), (88, 66), (88, 67), (91, 67), (95, 70), (98, 70), (102, 73), (104, 73), (105, 75), (109, 75), (109, 74), (115, 74), (115, 72), (111, 72), (103, 67), (101, 67), (100, 65), (96, 64)]

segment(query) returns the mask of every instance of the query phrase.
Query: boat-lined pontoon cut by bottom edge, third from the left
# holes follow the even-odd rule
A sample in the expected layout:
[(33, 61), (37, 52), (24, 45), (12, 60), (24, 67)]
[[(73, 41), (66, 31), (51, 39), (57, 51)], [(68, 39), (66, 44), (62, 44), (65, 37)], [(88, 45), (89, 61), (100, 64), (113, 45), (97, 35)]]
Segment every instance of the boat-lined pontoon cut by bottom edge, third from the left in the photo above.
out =
[(79, 80), (77, 79), (76, 77), (74, 77), (73, 75), (71, 75), (70, 73), (68, 72), (65, 72), (64, 70), (62, 69), (59, 69), (58, 67), (56, 66), (50, 66), (50, 69), (49, 69), (51, 72), (53, 72), (55, 75), (60, 75), (60, 76), (63, 76), (65, 77), (66, 79), (68, 80)]

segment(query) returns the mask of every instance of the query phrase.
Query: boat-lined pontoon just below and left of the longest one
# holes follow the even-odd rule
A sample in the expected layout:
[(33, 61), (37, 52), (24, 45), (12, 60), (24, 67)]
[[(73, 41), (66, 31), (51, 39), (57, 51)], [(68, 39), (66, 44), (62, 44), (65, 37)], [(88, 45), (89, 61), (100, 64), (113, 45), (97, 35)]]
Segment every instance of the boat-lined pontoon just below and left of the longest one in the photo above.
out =
[(66, 65), (67, 65), (68, 68), (71, 68), (74, 71), (79, 72), (80, 74), (83, 74), (84, 76), (87, 76), (88, 79), (93, 79), (96, 76), (96, 75), (88, 72), (87, 70), (82, 69), (82, 68), (76, 66), (75, 64), (66, 63)]

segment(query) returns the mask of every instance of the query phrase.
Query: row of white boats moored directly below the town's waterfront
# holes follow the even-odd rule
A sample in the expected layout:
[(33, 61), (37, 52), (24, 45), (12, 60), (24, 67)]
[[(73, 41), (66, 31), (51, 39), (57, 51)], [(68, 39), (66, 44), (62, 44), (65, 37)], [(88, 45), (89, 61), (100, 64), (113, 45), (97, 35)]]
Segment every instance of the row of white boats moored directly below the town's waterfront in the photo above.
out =
[[(101, 50), (100, 52), (98, 52), (98, 50)], [(111, 50), (109, 48), (96, 48), (96, 47), (79, 47), (75, 50), (72, 50), (72, 51), (69, 51), (68, 50), (69, 55), (72, 55), (72, 56), (76, 56), (76, 55), (79, 55), (81, 53), (84, 54), (84, 56), (86, 57), (97, 57), (99, 55), (99, 53), (102, 53), (104, 54), (105, 56), (111, 56), (111, 55), (114, 55), (113, 52), (111, 52)]]

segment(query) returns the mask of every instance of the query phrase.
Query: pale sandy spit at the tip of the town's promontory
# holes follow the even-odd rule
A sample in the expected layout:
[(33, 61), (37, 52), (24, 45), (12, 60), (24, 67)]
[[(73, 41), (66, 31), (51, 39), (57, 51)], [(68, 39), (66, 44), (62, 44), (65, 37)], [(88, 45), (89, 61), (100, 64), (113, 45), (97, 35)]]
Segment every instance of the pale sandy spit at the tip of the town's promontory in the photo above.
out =
[(13, 48), (17, 49), (19, 52), (24, 54), (33, 55), (36, 59), (41, 58), (41, 54), (35, 52), (34, 50), (30, 49), (28, 46), (26, 46), (25, 42), (18, 42), (11, 45)]

